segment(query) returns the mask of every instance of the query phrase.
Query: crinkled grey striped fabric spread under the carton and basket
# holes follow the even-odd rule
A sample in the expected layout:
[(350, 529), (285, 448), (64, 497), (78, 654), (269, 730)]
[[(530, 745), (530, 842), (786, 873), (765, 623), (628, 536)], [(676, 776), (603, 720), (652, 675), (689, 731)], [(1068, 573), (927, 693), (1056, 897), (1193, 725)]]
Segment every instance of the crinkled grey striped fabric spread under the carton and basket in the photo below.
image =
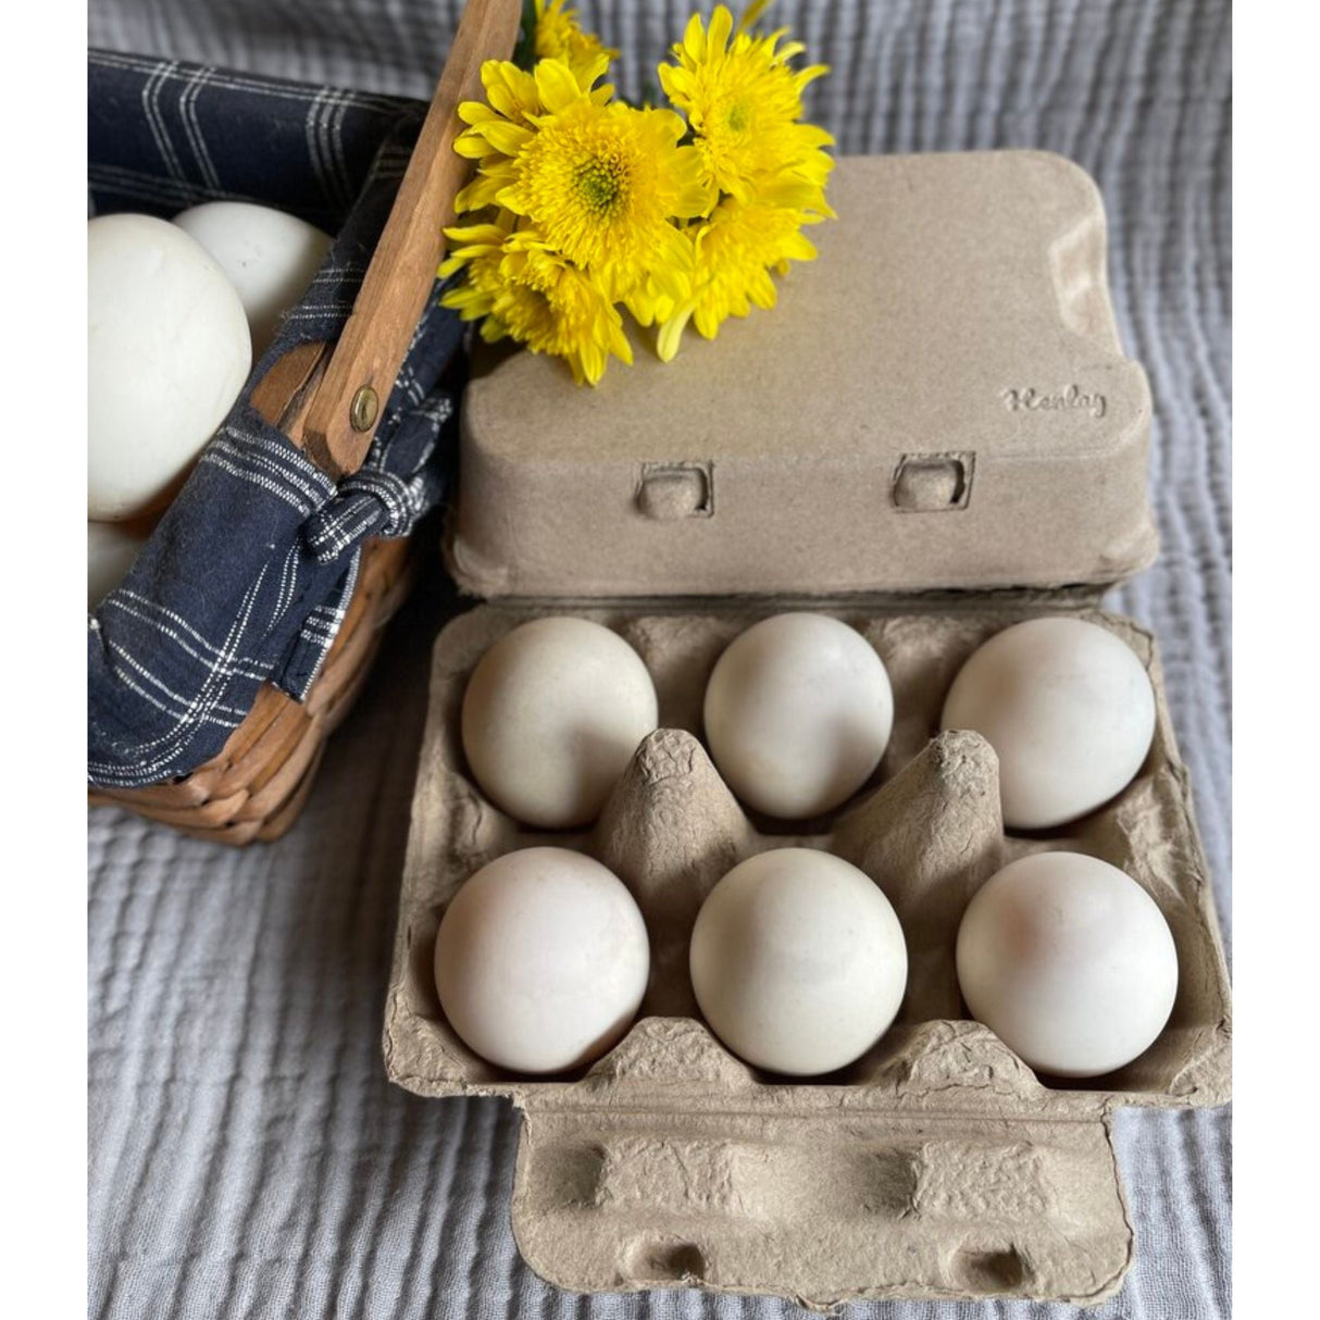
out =
[[(454, 0), (91, 0), (95, 45), (429, 96)], [(709, 5), (701, 5), (709, 9)], [(684, 4), (582, 0), (636, 91)], [(855, 0), (774, 15), (834, 73), (813, 115), (847, 152), (1043, 147), (1100, 181), (1114, 300), (1155, 396), (1151, 624), (1229, 916), (1226, 0)], [(425, 710), (447, 609), (432, 570), (300, 825), (244, 853), (90, 817), (90, 1313), (98, 1317), (800, 1315), (694, 1291), (582, 1298), (508, 1229), (517, 1118), (388, 1086), (379, 1034)], [(1125, 1111), (1138, 1239), (1113, 1320), (1226, 1317), (1228, 1110)], [(1059, 1317), (1031, 1304), (865, 1305), (849, 1320)]]

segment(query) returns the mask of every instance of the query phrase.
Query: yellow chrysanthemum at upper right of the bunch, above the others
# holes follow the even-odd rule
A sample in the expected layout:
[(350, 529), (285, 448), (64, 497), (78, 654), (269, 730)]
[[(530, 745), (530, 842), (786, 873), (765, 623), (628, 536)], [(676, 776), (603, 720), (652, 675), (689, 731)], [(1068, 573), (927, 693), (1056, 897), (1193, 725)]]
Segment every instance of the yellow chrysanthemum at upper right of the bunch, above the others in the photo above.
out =
[(804, 46), (779, 45), (783, 36), (735, 32), (733, 15), (718, 5), (709, 29), (700, 15), (692, 16), (673, 48), (677, 63), (659, 69), (665, 95), (692, 124), (704, 178), (742, 202), (785, 176), (813, 185), (824, 199), (834, 164), (822, 150), (834, 139), (799, 121), (803, 88), (826, 66), (793, 70), (789, 59)]

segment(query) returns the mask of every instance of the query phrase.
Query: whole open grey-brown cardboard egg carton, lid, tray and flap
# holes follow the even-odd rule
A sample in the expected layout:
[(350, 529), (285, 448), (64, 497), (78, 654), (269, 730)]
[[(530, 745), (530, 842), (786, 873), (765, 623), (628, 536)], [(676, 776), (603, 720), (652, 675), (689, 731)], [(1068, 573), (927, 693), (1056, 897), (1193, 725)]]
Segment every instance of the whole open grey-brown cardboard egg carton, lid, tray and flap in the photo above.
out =
[[(1187, 774), (1152, 639), (1096, 611), (1144, 568), (1151, 403), (1118, 339), (1094, 183), (1043, 152), (850, 157), (838, 219), (779, 305), (688, 334), (671, 366), (638, 345), (597, 389), (529, 354), (478, 363), (462, 413), (446, 553), (495, 598), (434, 652), (384, 1048), (425, 1096), (508, 1096), (524, 1111), (513, 1230), (569, 1288), (694, 1286), (855, 1298), (1100, 1302), (1133, 1251), (1111, 1142), (1121, 1105), (1229, 1094), (1229, 989)], [(829, 817), (750, 818), (701, 743), (723, 647), (813, 609), (857, 627), (894, 685), (879, 772)], [(1053, 610), (1118, 632), (1147, 665), (1150, 756), (1065, 829), (1002, 829), (997, 764), (939, 734), (944, 696), (987, 636)], [(661, 729), (593, 830), (533, 832), (469, 776), (459, 706), (484, 649), (541, 614), (616, 630), (642, 655)], [(628, 884), (652, 975), (628, 1035), (594, 1067), (517, 1077), (474, 1056), (440, 1010), (445, 906), (515, 847), (576, 847)], [(702, 898), (760, 849), (829, 849), (880, 884), (904, 928), (898, 1020), (840, 1073), (750, 1068), (696, 1011), (686, 945)], [(968, 899), (1024, 853), (1121, 867), (1168, 920), (1168, 1026), (1121, 1072), (1036, 1076), (970, 1020), (954, 975)]]

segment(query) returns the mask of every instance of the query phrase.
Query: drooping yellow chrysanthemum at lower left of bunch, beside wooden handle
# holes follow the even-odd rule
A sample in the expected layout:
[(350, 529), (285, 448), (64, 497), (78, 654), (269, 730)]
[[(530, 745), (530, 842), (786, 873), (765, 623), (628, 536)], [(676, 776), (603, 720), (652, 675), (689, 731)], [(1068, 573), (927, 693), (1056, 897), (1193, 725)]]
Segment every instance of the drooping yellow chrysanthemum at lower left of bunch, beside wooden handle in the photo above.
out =
[(465, 321), (480, 319), (487, 343), (511, 337), (564, 358), (579, 384), (594, 385), (611, 352), (632, 362), (623, 318), (599, 285), (533, 231), (512, 230), (512, 216), (445, 234), (457, 246), (440, 273), (466, 269), (467, 277), (441, 301)]

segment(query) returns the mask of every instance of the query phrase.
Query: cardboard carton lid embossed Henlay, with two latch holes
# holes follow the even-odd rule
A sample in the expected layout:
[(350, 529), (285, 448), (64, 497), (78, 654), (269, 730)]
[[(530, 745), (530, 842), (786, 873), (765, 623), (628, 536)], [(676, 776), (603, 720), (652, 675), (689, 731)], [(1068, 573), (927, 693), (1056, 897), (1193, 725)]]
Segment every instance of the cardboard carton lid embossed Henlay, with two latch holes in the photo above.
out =
[(597, 388), (478, 364), (449, 557), (487, 597), (1109, 585), (1154, 558), (1151, 403), (1092, 180), (1043, 152), (843, 157), (774, 310)]

